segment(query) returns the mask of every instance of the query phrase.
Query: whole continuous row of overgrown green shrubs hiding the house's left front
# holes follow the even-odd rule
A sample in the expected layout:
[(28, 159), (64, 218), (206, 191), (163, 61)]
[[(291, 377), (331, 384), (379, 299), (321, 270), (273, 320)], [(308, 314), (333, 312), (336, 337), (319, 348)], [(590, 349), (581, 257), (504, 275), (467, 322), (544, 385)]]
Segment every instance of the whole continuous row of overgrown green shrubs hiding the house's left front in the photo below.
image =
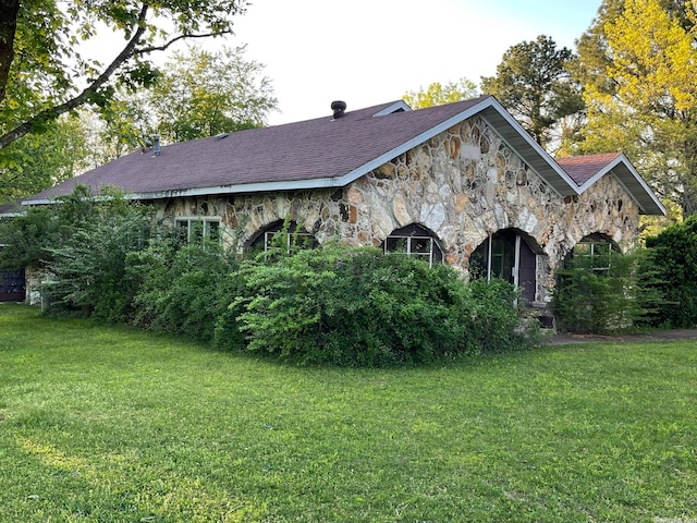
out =
[[(187, 245), (122, 195), (77, 187), (17, 221), (15, 254), (44, 265), (50, 313), (81, 314), (228, 350), (344, 366), (431, 362), (530, 344), (516, 291), (466, 284), (452, 268), (372, 248), (304, 250), (289, 221), (270, 252), (241, 262)], [(289, 240), (290, 239), (290, 240)], [(306, 246), (306, 245), (305, 245)]]

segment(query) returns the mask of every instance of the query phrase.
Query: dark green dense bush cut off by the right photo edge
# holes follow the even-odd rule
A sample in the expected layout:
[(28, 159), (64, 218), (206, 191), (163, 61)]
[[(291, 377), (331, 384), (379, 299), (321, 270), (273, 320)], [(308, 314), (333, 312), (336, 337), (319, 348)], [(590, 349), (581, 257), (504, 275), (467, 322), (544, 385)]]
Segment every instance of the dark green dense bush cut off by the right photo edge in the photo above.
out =
[(647, 238), (650, 256), (645, 271), (657, 277), (651, 282), (665, 297), (665, 304), (653, 315), (658, 325), (694, 327), (697, 325), (697, 215), (676, 223), (659, 235)]

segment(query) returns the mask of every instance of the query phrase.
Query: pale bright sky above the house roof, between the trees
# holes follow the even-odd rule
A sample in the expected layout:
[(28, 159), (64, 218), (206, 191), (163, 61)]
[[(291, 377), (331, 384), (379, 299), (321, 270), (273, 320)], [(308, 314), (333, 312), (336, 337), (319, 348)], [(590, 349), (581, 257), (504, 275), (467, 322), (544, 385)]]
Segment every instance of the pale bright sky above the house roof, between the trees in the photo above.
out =
[[(574, 48), (601, 0), (253, 0), (228, 46), (266, 65), (270, 124), (359, 109), (433, 82), (491, 76), (505, 50), (538, 35)], [(218, 40), (220, 41), (220, 40)], [(208, 46), (207, 46), (208, 47)]]

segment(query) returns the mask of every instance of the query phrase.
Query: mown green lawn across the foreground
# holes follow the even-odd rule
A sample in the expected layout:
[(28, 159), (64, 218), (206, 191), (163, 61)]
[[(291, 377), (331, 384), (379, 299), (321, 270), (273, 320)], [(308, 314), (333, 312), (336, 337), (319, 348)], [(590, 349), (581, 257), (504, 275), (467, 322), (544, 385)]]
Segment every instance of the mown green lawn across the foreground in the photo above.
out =
[(694, 341), (297, 368), (0, 306), (2, 522), (697, 521)]

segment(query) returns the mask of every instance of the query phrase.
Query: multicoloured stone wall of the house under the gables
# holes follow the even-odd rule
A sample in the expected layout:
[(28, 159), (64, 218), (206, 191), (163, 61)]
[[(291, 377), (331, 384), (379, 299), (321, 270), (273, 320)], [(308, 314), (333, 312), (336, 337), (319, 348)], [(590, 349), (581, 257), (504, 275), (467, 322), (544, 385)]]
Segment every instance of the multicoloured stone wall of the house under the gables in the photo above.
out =
[(418, 223), (444, 259), (465, 275), (490, 234), (513, 229), (537, 255), (536, 301), (549, 300), (553, 272), (584, 236), (622, 245), (635, 236), (639, 208), (614, 175), (580, 196), (560, 196), (479, 117), (453, 126), (340, 188), (171, 199), (159, 217), (217, 216), (225, 243), (243, 251), (265, 227), (290, 217), (321, 244), (380, 245)]

